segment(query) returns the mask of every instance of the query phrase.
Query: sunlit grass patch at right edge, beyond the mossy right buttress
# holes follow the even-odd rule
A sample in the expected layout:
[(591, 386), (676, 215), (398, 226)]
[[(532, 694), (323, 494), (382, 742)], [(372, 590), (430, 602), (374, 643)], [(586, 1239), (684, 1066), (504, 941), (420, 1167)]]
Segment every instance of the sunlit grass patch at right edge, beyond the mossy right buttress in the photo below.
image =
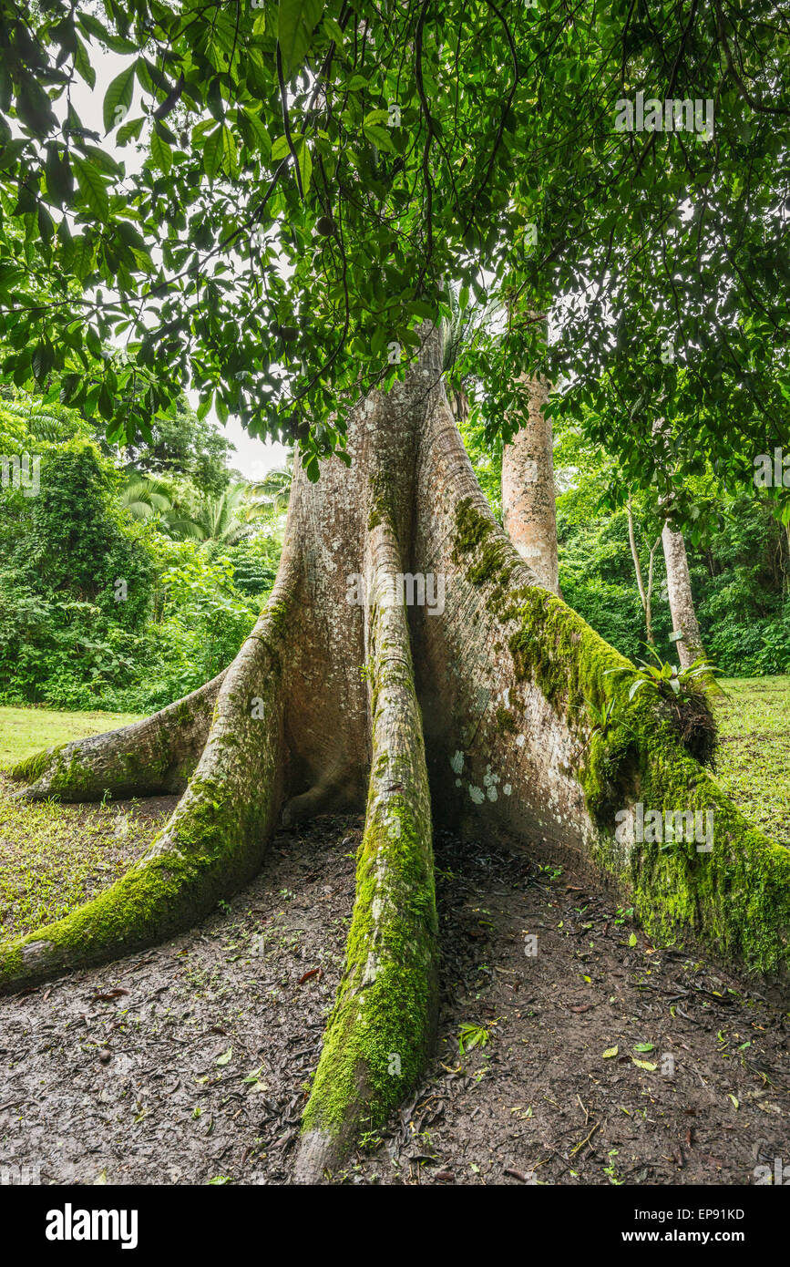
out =
[(766, 835), (790, 845), (790, 677), (723, 678), (722, 787)]

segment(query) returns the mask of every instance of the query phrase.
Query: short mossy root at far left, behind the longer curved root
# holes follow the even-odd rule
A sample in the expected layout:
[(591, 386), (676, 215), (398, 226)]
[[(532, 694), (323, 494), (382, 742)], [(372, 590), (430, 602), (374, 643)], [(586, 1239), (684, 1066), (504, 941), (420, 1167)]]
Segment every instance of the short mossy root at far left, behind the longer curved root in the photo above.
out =
[[(227, 672), (227, 670), (225, 670)], [(120, 730), (48, 748), (19, 761), (18, 799), (101, 801), (182, 792), (211, 726), (225, 673), (160, 712)]]

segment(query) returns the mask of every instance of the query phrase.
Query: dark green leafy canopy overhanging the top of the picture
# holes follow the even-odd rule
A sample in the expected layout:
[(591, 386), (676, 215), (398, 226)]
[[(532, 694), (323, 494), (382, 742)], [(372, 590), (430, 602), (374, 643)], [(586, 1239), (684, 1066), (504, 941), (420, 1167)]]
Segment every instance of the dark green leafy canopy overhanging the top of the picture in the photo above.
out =
[[(148, 436), (191, 384), (201, 417), (298, 438), (318, 478), (348, 403), (451, 315), (451, 283), (461, 308), (506, 308), (476, 370), (563, 376), (639, 478), (660, 403), (675, 470), (743, 468), (747, 437), (786, 431), (786, 5), (0, 8), (1, 374), (110, 440)], [(104, 49), (122, 68), (99, 124), (71, 90)], [(617, 131), (639, 91), (710, 99), (713, 139)], [(142, 165), (119, 161), (137, 144)]]

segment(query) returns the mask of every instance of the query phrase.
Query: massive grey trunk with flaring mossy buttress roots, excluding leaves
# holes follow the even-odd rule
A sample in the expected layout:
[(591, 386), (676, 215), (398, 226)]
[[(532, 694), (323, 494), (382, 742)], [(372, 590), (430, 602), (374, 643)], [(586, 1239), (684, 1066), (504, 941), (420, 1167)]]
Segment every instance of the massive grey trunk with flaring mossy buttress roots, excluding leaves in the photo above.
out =
[[(475, 480), (436, 333), (404, 383), (352, 409), (348, 454), (317, 484), (298, 469), (275, 589), (222, 679), (14, 772), (24, 796), (71, 799), (189, 782), (120, 881), (0, 948), (4, 992), (118, 958), (243, 884), (282, 818), (366, 805), (303, 1182), (420, 1076), (437, 998), (432, 811), (606, 875), (662, 943), (694, 933), (774, 981), (790, 959), (790, 854), (748, 827), (647, 693), (628, 702), (608, 672), (628, 661), (536, 585)], [(609, 701), (615, 723), (600, 727)], [(637, 802), (710, 810), (713, 849), (623, 834)]]

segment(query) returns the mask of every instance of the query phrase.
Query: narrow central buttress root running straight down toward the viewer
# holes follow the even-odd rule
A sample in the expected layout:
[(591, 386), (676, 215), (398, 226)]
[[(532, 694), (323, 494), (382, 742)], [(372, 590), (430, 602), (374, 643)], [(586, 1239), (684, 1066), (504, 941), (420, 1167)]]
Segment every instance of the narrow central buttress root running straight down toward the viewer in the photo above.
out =
[(385, 519), (372, 531), (368, 682), (372, 769), (346, 971), (324, 1035), (296, 1161), (320, 1182), (354, 1135), (417, 1082), (436, 1026), (437, 916), (430, 802), (406, 616), (380, 606), (400, 570)]

